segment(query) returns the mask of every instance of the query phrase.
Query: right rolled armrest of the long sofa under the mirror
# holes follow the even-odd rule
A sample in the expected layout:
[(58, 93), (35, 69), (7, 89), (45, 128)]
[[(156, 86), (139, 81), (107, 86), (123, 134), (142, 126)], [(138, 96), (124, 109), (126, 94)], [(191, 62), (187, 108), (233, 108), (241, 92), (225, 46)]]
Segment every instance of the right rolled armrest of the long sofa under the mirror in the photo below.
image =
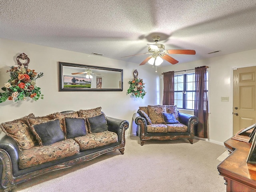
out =
[(113, 117), (106, 116), (108, 130), (115, 132), (118, 135), (118, 141), (121, 142), (122, 140), (122, 133), (128, 129), (129, 122), (122, 119), (117, 119)]

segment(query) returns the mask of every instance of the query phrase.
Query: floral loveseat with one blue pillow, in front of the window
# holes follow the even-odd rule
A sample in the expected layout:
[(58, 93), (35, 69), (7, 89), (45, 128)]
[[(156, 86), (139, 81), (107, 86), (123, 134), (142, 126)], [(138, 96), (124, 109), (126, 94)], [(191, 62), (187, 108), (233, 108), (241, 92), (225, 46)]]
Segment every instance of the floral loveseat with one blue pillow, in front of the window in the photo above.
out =
[(178, 112), (176, 105), (148, 105), (139, 107), (133, 119), (137, 126), (140, 144), (145, 140), (174, 140), (187, 138), (191, 144), (194, 139), (194, 125), (198, 118)]

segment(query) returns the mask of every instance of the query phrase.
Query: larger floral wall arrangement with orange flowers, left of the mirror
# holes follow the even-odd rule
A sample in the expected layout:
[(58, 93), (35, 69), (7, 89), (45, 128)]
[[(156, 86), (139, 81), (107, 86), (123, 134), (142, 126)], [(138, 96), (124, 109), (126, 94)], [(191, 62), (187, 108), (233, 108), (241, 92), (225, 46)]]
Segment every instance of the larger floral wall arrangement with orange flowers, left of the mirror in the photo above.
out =
[[(36, 86), (36, 79), (44, 74), (28, 68), (30, 59), (25, 53), (20, 54), (16, 60), (18, 67), (11, 66), (11, 69), (6, 71), (10, 72), (10, 80), (2, 88), (4, 92), (0, 93), (0, 103), (6, 100), (17, 102), (27, 98), (31, 98), (34, 101), (39, 98), (43, 99), (44, 95), (41, 94), (40, 87)], [(25, 63), (21, 63), (20, 60), (25, 60)]]

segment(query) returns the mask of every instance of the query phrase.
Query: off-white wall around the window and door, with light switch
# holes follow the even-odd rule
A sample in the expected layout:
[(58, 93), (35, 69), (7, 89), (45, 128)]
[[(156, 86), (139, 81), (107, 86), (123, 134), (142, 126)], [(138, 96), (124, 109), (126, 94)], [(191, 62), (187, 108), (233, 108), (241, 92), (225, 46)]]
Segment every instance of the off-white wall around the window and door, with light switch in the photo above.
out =
[[(233, 124), (233, 80), (234, 67), (256, 66), (256, 50), (239, 52), (185, 64), (161, 68), (161, 72), (193, 69), (209, 66), (209, 140), (223, 144), (232, 136)], [(189, 71), (188, 71), (189, 72)], [(163, 79), (161, 80), (161, 89)], [(161, 93), (162, 94), (162, 93)], [(229, 97), (229, 102), (221, 102), (220, 97)], [(160, 96), (162, 98), (162, 95)]]

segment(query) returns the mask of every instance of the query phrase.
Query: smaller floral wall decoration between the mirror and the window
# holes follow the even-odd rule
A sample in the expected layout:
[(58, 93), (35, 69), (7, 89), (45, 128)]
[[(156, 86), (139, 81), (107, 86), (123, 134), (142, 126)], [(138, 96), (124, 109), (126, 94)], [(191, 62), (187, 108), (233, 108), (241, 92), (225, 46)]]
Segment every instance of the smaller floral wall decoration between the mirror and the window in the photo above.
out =
[(134, 70), (133, 78), (128, 81), (128, 84), (130, 84), (130, 87), (127, 90), (126, 95), (132, 94), (134, 97), (141, 97), (143, 99), (143, 97), (146, 95), (146, 92), (143, 89), (145, 87), (145, 83), (143, 82), (143, 79), (138, 78), (137, 70)]

